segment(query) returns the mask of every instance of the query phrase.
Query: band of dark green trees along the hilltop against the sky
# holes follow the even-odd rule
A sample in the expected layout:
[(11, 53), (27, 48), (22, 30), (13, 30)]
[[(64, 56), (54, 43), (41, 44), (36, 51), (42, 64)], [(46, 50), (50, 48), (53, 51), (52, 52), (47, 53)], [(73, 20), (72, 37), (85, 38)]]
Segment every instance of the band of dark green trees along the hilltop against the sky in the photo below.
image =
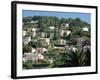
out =
[(88, 24), (87, 22), (84, 22), (82, 20), (80, 20), (80, 18), (61, 18), (59, 19), (58, 17), (48, 17), (48, 16), (30, 16), (30, 17), (24, 17), (23, 18), (23, 23), (27, 22), (31, 22), (31, 21), (39, 21), (38, 22), (38, 27), (47, 27), (47, 26), (56, 26), (56, 27), (60, 27), (60, 25), (62, 23), (69, 23), (69, 26), (80, 26), (80, 27), (84, 27), (84, 26), (90, 26), (90, 24)]

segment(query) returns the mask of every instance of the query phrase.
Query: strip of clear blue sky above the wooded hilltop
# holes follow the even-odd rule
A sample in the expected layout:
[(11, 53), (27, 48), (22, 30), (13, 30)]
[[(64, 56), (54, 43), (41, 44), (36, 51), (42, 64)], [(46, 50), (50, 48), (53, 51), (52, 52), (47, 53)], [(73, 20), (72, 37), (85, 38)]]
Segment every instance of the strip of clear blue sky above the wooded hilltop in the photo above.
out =
[(80, 18), (82, 21), (91, 23), (90, 13), (75, 13), (75, 12), (53, 12), (53, 11), (34, 11), (34, 10), (23, 10), (23, 17), (27, 16), (56, 16), (58, 18)]

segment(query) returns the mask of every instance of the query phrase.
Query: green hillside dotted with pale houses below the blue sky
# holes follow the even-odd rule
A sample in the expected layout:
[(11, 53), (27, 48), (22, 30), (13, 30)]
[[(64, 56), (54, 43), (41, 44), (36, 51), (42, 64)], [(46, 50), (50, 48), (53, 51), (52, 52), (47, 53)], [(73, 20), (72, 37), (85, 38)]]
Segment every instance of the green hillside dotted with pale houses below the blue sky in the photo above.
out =
[(80, 18), (23, 17), (23, 68), (90, 66), (90, 33)]

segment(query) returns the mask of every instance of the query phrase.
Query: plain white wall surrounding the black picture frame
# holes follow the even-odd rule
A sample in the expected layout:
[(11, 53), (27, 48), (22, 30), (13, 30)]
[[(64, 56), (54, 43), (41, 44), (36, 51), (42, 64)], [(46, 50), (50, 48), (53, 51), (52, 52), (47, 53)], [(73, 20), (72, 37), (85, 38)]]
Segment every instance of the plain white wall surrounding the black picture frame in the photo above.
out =
[[(17, 0), (16, 0), (17, 1)], [(19, 0), (20, 1), (20, 0)], [(24, 0), (27, 1), (27, 0)], [(100, 0), (31, 0), (37, 2), (50, 2), (50, 3), (66, 3), (66, 4), (82, 4), (82, 5), (100, 5)], [(10, 14), (11, 0), (0, 1), (0, 80), (12, 80), (10, 78), (11, 72), (11, 14)], [(99, 6), (100, 9), (100, 6)], [(99, 11), (100, 14), (100, 11)], [(99, 20), (100, 21), (100, 16)], [(100, 26), (100, 24), (99, 24)], [(98, 27), (98, 31), (100, 27)], [(99, 33), (100, 34), (100, 31)], [(100, 41), (100, 37), (99, 40)], [(100, 42), (98, 42), (100, 44)], [(99, 45), (100, 47), (100, 45)], [(100, 49), (99, 49), (100, 52)], [(99, 53), (98, 52), (98, 53)], [(100, 57), (100, 54), (98, 54)], [(100, 58), (99, 60), (100, 61)], [(99, 64), (100, 67), (100, 64)], [(100, 71), (100, 69), (99, 69)], [(22, 79), (20, 79), (22, 80)], [(25, 79), (23, 79), (25, 80)], [(32, 80), (32, 79), (27, 79)], [(77, 76), (63, 76), (51, 78), (36, 78), (34, 80), (100, 80), (100, 74), (93, 75), (77, 75)]]

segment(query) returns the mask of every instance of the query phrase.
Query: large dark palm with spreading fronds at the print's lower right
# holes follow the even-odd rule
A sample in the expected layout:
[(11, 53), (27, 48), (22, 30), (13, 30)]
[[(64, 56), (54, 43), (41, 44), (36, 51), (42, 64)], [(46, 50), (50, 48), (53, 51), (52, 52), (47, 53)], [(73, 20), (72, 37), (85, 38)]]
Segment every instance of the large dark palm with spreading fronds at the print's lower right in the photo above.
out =
[(75, 66), (87, 66), (90, 63), (90, 59), (87, 56), (86, 52), (84, 50), (77, 50), (77, 51), (69, 51), (67, 54), (68, 59), (67, 63), (69, 63), (69, 66), (75, 67)]

